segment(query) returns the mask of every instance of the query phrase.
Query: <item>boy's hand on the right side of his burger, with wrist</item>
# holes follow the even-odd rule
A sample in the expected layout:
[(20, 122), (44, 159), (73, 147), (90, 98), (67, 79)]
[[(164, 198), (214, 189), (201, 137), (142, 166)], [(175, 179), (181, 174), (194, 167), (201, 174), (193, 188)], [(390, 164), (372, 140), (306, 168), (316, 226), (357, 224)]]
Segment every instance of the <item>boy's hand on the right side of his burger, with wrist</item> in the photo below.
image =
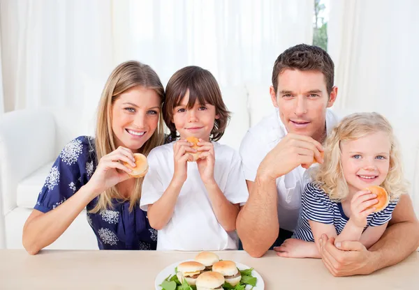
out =
[(199, 139), (198, 146), (198, 152), (201, 153), (199, 159), (196, 160), (196, 164), (198, 165), (200, 177), (205, 185), (214, 184), (214, 145), (211, 142), (205, 142), (203, 139)]

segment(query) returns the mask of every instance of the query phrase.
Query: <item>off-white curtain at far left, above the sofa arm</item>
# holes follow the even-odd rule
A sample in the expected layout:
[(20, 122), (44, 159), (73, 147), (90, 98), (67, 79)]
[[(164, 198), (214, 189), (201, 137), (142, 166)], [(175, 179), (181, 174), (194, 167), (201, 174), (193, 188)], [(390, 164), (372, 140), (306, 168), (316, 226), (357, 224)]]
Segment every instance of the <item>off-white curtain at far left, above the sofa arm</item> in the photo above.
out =
[(113, 66), (110, 0), (2, 0), (6, 111), (80, 107)]

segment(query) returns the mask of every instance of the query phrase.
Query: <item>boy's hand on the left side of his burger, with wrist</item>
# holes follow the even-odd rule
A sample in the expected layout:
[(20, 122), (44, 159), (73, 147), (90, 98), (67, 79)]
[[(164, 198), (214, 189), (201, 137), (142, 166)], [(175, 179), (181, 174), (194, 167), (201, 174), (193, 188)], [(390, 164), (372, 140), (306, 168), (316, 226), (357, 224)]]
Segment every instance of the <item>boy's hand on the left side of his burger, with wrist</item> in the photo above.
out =
[(175, 171), (173, 172), (173, 181), (184, 183), (186, 181), (188, 165), (187, 162), (193, 161), (190, 153), (196, 153), (196, 149), (191, 148), (193, 144), (186, 140), (178, 140), (173, 144), (173, 160), (175, 162)]

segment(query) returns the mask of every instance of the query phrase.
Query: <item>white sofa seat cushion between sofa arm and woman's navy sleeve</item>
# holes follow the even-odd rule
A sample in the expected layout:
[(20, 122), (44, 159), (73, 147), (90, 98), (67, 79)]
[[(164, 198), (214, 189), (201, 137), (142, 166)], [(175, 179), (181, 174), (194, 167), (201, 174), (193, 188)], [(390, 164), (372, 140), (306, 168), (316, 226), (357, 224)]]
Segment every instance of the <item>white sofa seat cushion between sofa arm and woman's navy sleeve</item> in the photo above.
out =
[(40, 169), (36, 170), (33, 174), (23, 178), (17, 184), (17, 207), (20, 208), (34, 208), (38, 194), (41, 191), (45, 178), (50, 173), (51, 167), (54, 162), (49, 162)]

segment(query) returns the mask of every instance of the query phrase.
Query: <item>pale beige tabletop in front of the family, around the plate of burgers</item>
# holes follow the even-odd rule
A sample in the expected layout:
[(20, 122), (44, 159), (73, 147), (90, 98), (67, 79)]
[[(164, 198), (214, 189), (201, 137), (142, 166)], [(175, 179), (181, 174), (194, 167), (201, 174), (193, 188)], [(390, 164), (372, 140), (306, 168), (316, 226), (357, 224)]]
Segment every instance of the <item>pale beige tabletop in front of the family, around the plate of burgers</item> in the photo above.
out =
[[(244, 251), (216, 252), (255, 268), (265, 289), (419, 289), (419, 252), (372, 275), (333, 277), (319, 259), (286, 259), (274, 252), (255, 259)], [(166, 266), (194, 252), (0, 250), (0, 289), (154, 289)]]

